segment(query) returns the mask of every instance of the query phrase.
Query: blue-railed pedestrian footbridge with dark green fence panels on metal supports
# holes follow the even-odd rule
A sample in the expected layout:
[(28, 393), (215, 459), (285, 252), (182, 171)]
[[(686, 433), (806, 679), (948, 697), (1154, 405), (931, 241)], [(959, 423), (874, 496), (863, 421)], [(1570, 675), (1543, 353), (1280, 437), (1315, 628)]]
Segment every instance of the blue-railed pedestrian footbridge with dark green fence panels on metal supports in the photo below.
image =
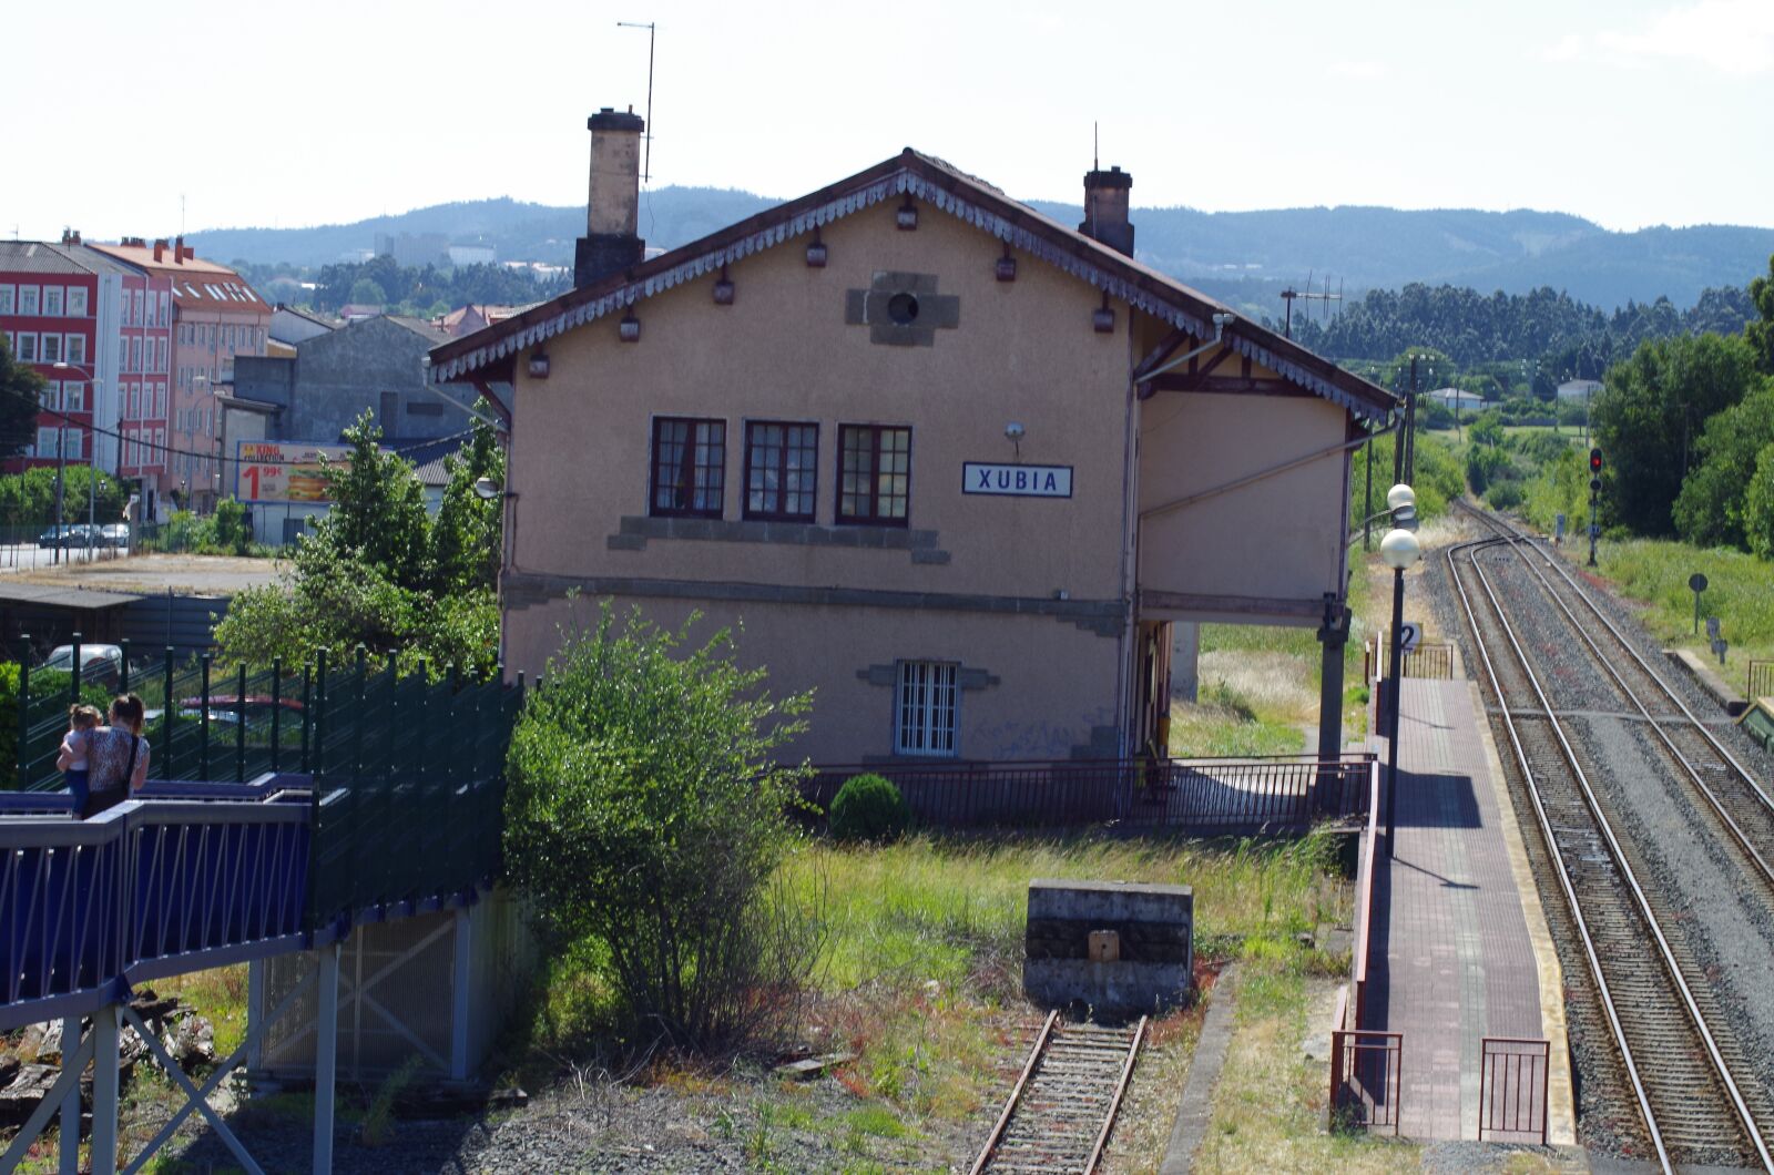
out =
[[(119, 689), (131, 676), (128, 655), (124, 666)], [(145, 731), (154, 767), (170, 765), (183, 777), (154, 779), (90, 820), (71, 816), (67, 793), (48, 790), (57, 779), (43, 769), (43, 747), (53, 747), (43, 731), (59, 742), (67, 701), (82, 683), (59, 674), (44, 690), (39, 676), (32, 696), (32, 674), (21, 682), (16, 781), (23, 788), (0, 793), (0, 1029), (60, 1019), (67, 1044), (60, 1079), (0, 1157), (0, 1170), (14, 1170), (57, 1113), (60, 1170), (76, 1170), (80, 1076), (89, 1063), (90, 1170), (115, 1170), (117, 1044), (121, 1031), (135, 1028), (184, 1084), (190, 1104), (126, 1170), (138, 1170), (197, 1111), (241, 1166), (257, 1171), (204, 1099), (300, 1008), (312, 1017), (305, 1024), (312, 1028), (314, 1170), (326, 1171), (339, 958), (353, 930), (444, 912), (458, 923), (456, 982), (436, 998), (468, 999), (468, 916), (498, 875), (502, 761), (522, 685), (431, 680), (422, 667), (401, 676), (358, 657), (344, 669), (319, 660), (300, 674), (273, 666), (257, 674), (263, 692), (239, 671), (215, 690), (208, 660), (169, 666), (135, 674), (138, 683), (158, 683), (158, 698), (137, 692), (158, 712)], [(190, 682), (192, 698), (184, 698), (184, 673), (200, 678)], [(296, 678), (300, 689), (291, 689)], [(259, 705), (264, 699), (270, 706)], [(264, 721), (255, 710), (268, 710)], [(264, 770), (248, 779), (250, 765)], [(131, 990), (153, 980), (279, 957), (291, 957), (279, 966), (300, 982), (277, 985), (275, 1006), (268, 1006), (264, 966), (254, 969), (248, 1038), (204, 1088), (160, 1054), (154, 1033), (128, 1008)], [(365, 987), (362, 976), (346, 983), (348, 999)], [(463, 1006), (452, 1012), (447, 1042), (415, 1045), (440, 1056), (451, 1076), (467, 1077), (467, 1015)]]

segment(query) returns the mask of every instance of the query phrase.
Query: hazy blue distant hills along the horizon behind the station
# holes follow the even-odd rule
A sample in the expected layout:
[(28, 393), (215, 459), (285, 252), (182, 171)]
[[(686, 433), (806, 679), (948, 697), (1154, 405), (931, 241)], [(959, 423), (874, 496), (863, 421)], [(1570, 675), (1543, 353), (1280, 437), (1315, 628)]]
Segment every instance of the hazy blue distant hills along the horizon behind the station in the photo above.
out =
[[(768, 208), (749, 192), (660, 188), (642, 195), (640, 234), (672, 248)], [(1036, 202), (1061, 224), (1077, 224), (1077, 204)], [(1201, 213), (1135, 208), (1139, 257), (1166, 273), (1238, 305), (1279, 316), (1279, 293), (1307, 273), (1329, 275), (1345, 293), (1398, 289), (1410, 282), (1471, 286), (1483, 293), (1538, 288), (1613, 311), (1668, 296), (1678, 309), (1703, 289), (1744, 286), (1774, 254), (1774, 229), (1701, 225), (1607, 233), (1565, 213), (1391, 208), (1290, 208)], [(500, 261), (571, 264), (585, 231), (584, 208), (518, 201), (438, 204), (397, 217), (312, 229), (220, 229), (197, 233), (199, 254), (218, 261), (287, 263), (318, 268), (371, 248), (378, 233), (442, 233), (458, 245), (491, 245)]]

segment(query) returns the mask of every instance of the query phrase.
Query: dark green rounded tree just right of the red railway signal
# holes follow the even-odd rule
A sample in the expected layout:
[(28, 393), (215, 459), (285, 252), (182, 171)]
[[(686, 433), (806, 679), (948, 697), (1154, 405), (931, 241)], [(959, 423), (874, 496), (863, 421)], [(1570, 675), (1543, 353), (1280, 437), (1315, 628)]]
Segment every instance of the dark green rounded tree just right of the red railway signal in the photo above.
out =
[(1671, 534), (1692, 442), (1756, 382), (1749, 344), (1712, 334), (1641, 343), (1611, 367), (1590, 426), (1607, 460), (1614, 520), (1637, 534)]

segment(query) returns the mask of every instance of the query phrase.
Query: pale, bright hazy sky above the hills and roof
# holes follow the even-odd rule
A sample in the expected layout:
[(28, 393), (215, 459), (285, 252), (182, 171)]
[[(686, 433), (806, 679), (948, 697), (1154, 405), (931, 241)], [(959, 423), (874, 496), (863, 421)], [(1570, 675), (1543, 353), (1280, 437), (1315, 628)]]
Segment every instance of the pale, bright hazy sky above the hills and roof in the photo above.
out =
[[(1774, 225), (1774, 0), (11, 4), (0, 234), (307, 225), (653, 185), (800, 195), (912, 144), (1020, 199)], [(80, 71), (85, 71), (83, 75)]]

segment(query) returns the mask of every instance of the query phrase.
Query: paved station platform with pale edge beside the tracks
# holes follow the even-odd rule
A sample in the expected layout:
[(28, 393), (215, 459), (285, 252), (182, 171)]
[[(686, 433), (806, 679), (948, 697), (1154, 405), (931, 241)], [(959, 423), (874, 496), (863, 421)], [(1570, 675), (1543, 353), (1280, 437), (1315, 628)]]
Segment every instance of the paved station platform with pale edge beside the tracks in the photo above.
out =
[[(1547, 1134), (1575, 1141), (1563, 980), (1474, 682), (1405, 678), (1396, 848), (1373, 871), (1368, 1017), (1403, 1033), (1398, 1132), (1480, 1136), (1481, 1042), (1549, 1042)], [(1373, 738), (1382, 772), (1384, 738)]]

